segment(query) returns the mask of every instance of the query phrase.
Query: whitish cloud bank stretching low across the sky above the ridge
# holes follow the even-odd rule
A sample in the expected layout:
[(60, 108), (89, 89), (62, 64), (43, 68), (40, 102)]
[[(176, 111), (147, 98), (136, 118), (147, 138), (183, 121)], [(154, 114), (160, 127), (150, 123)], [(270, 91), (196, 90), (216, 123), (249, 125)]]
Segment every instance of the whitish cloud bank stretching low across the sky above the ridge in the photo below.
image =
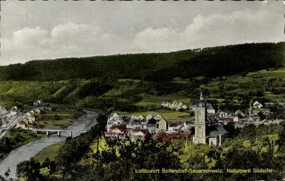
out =
[[(137, 11), (132, 11), (135, 12)], [(148, 13), (150, 12), (151, 10)], [(0, 62), (9, 64), (33, 59), (170, 52), (245, 42), (283, 41), (284, 17), (276, 18), (271, 13), (266, 8), (261, 8), (255, 11), (245, 9), (231, 13), (197, 15), (185, 20), (180, 28), (167, 23), (160, 26), (158, 19), (139, 26), (134, 23), (136, 17), (131, 18), (130, 25), (126, 23), (128, 20), (118, 22), (116, 18), (114, 24), (113, 20), (108, 24), (109, 17), (106, 20), (101, 18), (88, 21), (89, 23), (69, 20), (49, 28), (36, 24), (16, 30), (10, 36), (6, 34), (5, 38), (1, 36)], [(178, 14), (175, 11), (175, 17)], [(120, 15), (120, 18), (123, 16)], [(174, 21), (173, 18), (170, 19)], [(175, 19), (175, 25), (178, 25), (176, 20), (178, 19)], [(118, 24), (122, 24), (122, 30)], [(121, 35), (128, 30), (124, 26), (127, 26), (133, 36)]]

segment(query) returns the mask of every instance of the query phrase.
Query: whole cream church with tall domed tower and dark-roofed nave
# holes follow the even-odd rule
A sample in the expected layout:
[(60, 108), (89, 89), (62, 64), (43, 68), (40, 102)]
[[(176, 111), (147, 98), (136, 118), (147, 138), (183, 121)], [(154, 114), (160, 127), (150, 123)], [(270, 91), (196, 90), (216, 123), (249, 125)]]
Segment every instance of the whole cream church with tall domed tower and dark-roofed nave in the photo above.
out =
[(228, 132), (223, 126), (207, 118), (207, 106), (203, 101), (202, 92), (200, 100), (195, 106), (195, 144), (208, 144), (221, 146), (228, 136)]

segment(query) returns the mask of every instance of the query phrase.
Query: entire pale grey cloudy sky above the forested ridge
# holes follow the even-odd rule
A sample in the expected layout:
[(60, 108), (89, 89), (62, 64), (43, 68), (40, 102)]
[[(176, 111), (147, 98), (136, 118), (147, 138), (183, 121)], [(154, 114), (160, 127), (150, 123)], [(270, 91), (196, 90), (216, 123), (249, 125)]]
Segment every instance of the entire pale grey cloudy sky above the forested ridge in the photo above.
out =
[(281, 0), (6, 0), (0, 65), (280, 42), (284, 14)]

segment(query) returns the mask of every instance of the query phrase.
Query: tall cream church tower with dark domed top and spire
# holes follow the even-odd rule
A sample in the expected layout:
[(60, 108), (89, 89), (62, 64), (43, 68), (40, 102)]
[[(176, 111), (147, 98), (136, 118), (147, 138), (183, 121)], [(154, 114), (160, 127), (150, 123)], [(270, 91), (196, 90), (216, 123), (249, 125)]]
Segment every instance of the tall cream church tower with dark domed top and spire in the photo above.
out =
[(206, 120), (207, 107), (205, 102), (203, 101), (203, 96), (201, 92), (200, 100), (196, 103), (195, 107), (195, 144), (206, 144)]

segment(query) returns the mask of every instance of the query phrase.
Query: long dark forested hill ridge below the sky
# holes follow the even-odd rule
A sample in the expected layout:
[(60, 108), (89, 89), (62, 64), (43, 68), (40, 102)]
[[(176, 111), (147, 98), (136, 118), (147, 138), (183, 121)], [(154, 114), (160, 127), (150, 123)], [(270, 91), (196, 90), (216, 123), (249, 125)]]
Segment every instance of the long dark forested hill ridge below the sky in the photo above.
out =
[(94, 77), (168, 80), (218, 77), (284, 65), (285, 43), (228, 45), (171, 53), (32, 60), (0, 66), (0, 80), (51, 81)]

